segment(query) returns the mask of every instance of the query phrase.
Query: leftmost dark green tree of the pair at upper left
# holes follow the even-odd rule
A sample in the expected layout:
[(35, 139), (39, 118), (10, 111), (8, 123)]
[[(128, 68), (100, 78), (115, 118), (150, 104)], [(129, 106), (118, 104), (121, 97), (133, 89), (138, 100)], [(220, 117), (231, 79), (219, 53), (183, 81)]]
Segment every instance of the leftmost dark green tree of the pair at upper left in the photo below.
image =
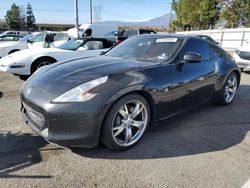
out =
[(22, 18), (20, 16), (19, 7), (15, 3), (12, 4), (11, 9), (7, 11), (5, 22), (11, 29), (21, 29)]

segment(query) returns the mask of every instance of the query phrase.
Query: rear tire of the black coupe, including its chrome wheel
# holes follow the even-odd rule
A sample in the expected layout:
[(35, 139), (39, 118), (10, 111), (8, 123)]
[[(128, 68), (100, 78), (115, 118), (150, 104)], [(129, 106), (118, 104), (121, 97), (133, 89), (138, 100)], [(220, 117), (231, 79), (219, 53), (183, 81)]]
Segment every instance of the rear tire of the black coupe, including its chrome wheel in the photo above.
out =
[(238, 76), (235, 72), (232, 72), (224, 86), (222, 87), (220, 94), (219, 94), (219, 104), (220, 105), (229, 105), (233, 102), (237, 89), (238, 89), (238, 85), (239, 85), (239, 80), (238, 80)]

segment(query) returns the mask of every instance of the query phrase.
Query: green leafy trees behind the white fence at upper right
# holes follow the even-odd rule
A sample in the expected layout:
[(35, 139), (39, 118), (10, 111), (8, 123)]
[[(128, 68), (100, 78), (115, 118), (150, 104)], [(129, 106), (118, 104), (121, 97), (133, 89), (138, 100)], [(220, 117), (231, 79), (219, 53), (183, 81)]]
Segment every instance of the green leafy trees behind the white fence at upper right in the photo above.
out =
[(250, 0), (174, 0), (177, 20), (172, 30), (214, 28), (219, 21), (226, 27), (250, 27)]

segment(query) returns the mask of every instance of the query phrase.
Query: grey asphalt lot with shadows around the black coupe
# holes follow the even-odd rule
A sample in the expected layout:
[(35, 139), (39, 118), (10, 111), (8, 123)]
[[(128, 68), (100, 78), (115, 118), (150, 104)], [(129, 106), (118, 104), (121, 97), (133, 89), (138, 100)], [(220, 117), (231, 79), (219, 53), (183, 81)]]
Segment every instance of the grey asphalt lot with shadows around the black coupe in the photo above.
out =
[(22, 83), (0, 72), (1, 188), (246, 187), (250, 179), (250, 75), (232, 105), (162, 121), (126, 152), (48, 144), (22, 121)]

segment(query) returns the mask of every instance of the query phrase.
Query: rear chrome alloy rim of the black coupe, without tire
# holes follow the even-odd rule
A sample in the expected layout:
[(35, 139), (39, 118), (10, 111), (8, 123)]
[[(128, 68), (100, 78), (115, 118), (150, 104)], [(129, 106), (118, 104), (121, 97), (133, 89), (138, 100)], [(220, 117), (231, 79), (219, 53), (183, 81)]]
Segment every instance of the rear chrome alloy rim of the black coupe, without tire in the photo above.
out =
[(224, 97), (227, 103), (232, 102), (232, 100), (234, 99), (237, 87), (238, 87), (238, 79), (237, 76), (233, 74), (228, 78), (225, 86)]

